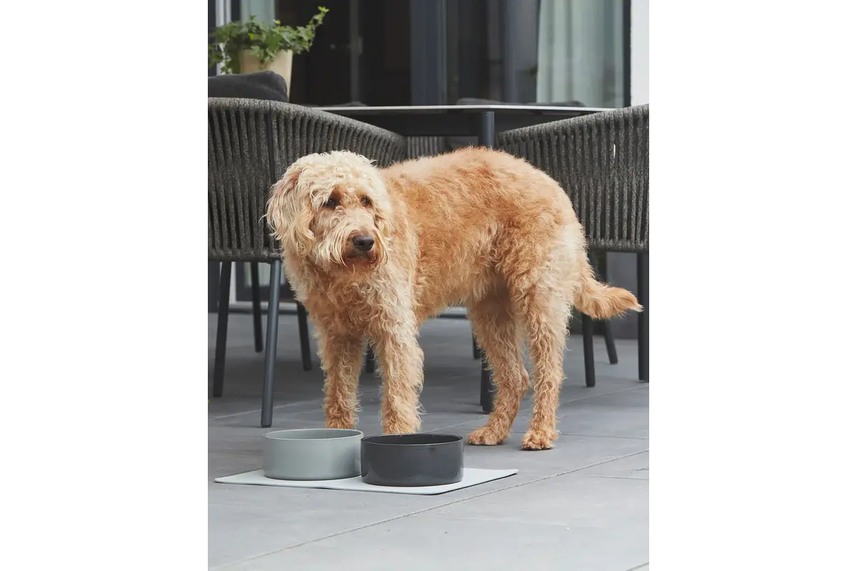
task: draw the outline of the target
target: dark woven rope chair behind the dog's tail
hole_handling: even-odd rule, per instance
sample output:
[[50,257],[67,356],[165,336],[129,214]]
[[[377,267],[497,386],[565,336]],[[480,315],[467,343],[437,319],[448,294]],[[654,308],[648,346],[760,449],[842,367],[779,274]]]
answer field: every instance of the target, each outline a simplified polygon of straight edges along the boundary
[[[651,104],[514,129],[497,138],[501,149],[560,182],[584,226],[590,261],[594,253],[637,254],[636,294],[644,306],[638,314],[638,376],[650,381]],[[594,386],[594,326],[588,316],[582,321],[586,386]]]

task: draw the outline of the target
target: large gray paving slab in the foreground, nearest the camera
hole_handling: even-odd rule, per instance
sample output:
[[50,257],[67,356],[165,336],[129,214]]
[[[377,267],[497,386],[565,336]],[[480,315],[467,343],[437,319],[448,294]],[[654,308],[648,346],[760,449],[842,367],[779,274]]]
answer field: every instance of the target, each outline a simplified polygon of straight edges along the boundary
[[650,529],[650,481],[567,474],[332,533],[230,568],[617,571],[650,561]]

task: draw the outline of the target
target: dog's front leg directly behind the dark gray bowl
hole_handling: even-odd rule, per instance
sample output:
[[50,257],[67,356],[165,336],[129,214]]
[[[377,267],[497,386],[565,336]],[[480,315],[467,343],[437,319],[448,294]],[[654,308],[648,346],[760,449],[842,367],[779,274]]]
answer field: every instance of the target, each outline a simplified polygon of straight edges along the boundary
[[423,349],[417,327],[398,326],[375,335],[381,364],[381,426],[384,434],[420,430],[419,396],[423,390]]

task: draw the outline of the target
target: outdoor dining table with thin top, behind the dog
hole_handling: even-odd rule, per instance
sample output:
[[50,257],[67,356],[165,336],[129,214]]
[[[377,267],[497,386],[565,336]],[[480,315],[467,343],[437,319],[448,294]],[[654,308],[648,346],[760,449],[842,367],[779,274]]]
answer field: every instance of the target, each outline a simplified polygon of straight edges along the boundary
[[[480,146],[494,147],[497,133],[530,127],[569,117],[609,111],[601,107],[559,107],[553,105],[395,105],[361,107],[316,107],[385,128],[405,137],[476,137]],[[482,410],[494,407],[488,363],[482,352]]]

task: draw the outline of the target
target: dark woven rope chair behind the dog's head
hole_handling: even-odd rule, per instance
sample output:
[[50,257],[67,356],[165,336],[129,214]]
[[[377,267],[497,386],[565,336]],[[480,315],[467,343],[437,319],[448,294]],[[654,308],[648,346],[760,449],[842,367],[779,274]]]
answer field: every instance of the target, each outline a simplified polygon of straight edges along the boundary
[[[223,394],[231,263],[270,264],[261,413],[261,425],[266,428],[273,419],[273,371],[283,276],[279,244],[264,219],[268,193],[297,158],[334,150],[359,152],[384,167],[405,157],[405,140],[385,129],[301,105],[206,98],[206,261],[223,263],[213,394]],[[298,312],[302,309],[299,305]],[[305,313],[299,315],[299,324],[302,339],[309,338]],[[302,353],[306,362],[309,342]]]

